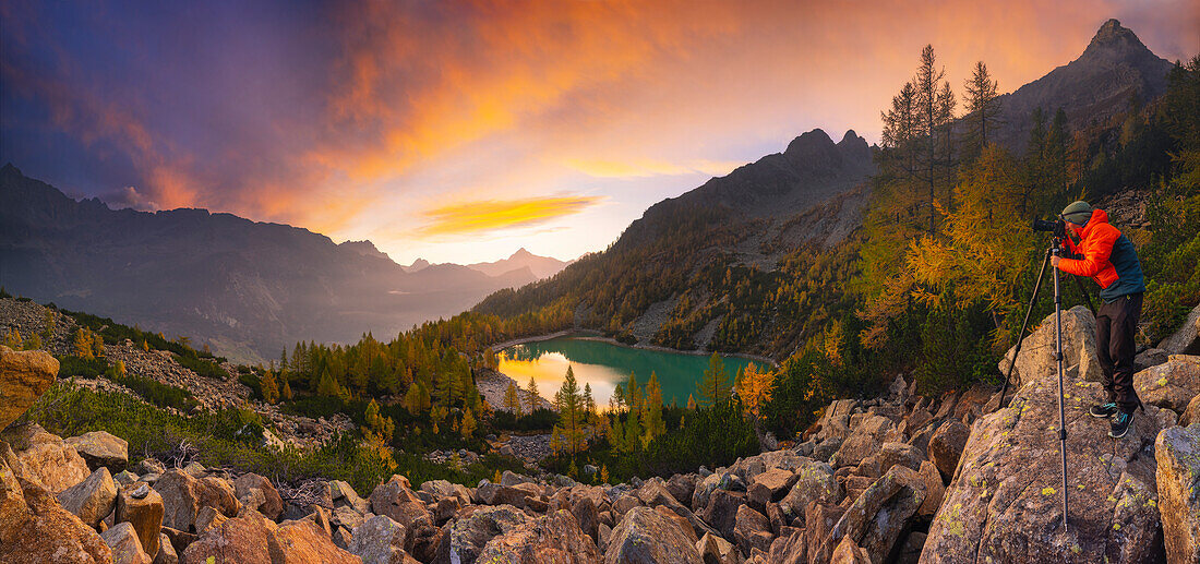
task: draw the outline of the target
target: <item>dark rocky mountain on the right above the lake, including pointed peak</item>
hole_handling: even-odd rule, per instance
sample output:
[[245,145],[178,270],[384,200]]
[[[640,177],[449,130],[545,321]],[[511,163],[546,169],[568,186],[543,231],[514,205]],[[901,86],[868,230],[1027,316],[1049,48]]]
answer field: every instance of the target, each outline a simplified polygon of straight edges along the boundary
[[[1068,131],[1103,124],[1130,103],[1160,96],[1171,67],[1110,19],[1078,59],[997,96],[1000,122],[991,139],[1022,152],[1036,108],[1046,121],[1062,109]],[[778,311],[724,318],[733,311],[730,300],[745,292],[730,269],[752,266],[769,277],[786,257],[812,257],[844,240],[862,224],[872,152],[853,131],[838,143],[821,130],[810,131],[781,154],[654,204],[605,252],[581,258],[553,278],[488,296],[476,311],[512,316],[566,296],[578,305],[578,324],[624,338],[790,353],[803,335],[785,335]],[[654,250],[650,257],[647,248]],[[653,276],[641,277],[647,269]],[[754,277],[742,282],[752,284]],[[746,347],[721,341],[726,330],[760,337]]]

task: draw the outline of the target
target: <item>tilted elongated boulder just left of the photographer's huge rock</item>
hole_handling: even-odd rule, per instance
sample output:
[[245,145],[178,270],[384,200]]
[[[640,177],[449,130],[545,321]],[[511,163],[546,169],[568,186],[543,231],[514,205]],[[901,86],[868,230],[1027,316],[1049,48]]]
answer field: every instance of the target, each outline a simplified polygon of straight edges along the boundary
[[826,562],[839,542],[850,539],[865,548],[872,560],[883,562],[924,500],[925,482],[920,475],[908,467],[893,466],[846,509],[809,559]]

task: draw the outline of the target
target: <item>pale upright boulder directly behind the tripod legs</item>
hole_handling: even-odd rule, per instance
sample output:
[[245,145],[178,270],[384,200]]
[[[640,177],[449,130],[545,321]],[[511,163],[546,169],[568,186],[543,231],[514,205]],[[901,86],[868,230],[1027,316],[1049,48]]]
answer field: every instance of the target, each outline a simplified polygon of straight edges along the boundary
[[[1015,350],[1016,347],[1008,349],[1001,359],[1001,374],[1008,373]],[[1025,337],[1021,354],[1016,359],[1016,368],[1013,371],[1013,383],[1021,386],[1042,378],[1057,378],[1058,364],[1054,359],[1056,350],[1055,318],[1051,313],[1028,337]],[[1085,306],[1075,306],[1062,312],[1062,358],[1063,368],[1072,379],[1100,382],[1104,377],[1096,355],[1096,316]]]

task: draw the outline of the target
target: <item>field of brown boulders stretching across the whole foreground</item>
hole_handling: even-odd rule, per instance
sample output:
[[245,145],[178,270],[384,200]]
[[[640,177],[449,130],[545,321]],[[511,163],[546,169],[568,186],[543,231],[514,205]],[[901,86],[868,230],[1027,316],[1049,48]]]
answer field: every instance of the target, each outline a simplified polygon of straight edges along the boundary
[[[0,436],[0,562],[1200,562],[1200,356],[1144,355],[1146,408],[1111,439],[1086,413],[1103,394],[1094,319],[1064,319],[1066,532],[1043,324],[1003,408],[990,388],[930,398],[896,379],[887,397],[833,402],[794,448],[616,486],[394,475],[365,497],[341,481],[284,497],[256,474],[130,466],[108,433],[14,426]],[[2,389],[40,394],[53,364],[0,349]],[[25,407],[6,403],[0,425]]]

